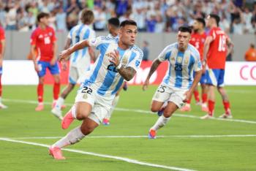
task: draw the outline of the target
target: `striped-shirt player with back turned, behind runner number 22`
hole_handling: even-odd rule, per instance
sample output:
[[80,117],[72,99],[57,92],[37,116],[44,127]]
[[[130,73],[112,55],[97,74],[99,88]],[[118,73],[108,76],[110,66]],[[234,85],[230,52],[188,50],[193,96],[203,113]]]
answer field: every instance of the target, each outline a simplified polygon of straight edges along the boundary
[[[89,27],[94,21],[94,12],[88,9],[83,9],[80,20],[81,24],[74,26],[69,31],[67,42],[64,47],[65,50],[83,39],[95,38],[95,31]],[[51,110],[53,115],[56,115],[57,117],[61,117],[61,106],[63,106],[64,100],[67,98],[68,94],[75,87],[76,83],[78,83],[78,80],[83,82],[84,75],[86,75],[86,72],[90,69],[91,53],[89,52],[89,47],[84,47],[83,49],[72,53],[69,62],[69,83],[67,87],[64,88],[64,91],[62,91],[53,110]],[[65,61],[63,62],[63,65],[64,69],[66,69],[67,63]]]

